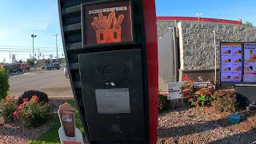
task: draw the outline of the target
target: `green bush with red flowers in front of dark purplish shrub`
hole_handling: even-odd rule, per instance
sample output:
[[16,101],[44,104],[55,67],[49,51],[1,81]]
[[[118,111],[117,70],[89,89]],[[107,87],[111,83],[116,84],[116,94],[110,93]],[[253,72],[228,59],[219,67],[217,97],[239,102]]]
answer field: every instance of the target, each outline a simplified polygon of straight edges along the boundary
[[26,127],[38,127],[47,122],[50,114],[50,106],[47,103],[26,102],[18,113],[18,120]]

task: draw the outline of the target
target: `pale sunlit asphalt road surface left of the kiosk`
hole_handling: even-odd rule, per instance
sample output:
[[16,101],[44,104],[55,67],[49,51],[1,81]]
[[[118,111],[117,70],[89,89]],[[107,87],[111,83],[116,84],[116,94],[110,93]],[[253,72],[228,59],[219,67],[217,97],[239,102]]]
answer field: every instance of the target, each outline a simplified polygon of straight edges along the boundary
[[44,70],[14,75],[9,78],[10,95],[19,96],[26,90],[40,90],[49,96],[73,96],[70,79],[63,70]]

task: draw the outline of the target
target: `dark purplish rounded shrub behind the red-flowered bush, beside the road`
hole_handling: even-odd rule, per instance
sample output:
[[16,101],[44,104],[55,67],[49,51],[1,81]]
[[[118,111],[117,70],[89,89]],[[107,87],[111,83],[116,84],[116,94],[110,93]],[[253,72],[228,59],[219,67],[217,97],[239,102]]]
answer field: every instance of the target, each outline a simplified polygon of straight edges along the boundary
[[25,91],[18,98],[18,104],[22,104],[23,99],[25,99],[25,98],[28,98],[28,100],[30,101],[30,98],[32,98],[35,95],[38,96],[38,98],[39,98],[38,102],[48,102],[49,101],[48,95],[46,93],[43,93],[38,90],[29,90],[29,91]]

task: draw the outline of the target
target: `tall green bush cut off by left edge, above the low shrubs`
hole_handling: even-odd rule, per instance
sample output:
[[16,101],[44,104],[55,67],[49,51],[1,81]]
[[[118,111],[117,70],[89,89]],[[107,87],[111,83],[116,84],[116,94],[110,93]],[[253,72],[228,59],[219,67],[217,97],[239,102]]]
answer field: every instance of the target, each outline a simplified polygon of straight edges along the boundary
[[2,98],[6,98],[6,95],[9,91],[9,83],[8,83],[9,75],[7,71],[0,65],[0,100]]

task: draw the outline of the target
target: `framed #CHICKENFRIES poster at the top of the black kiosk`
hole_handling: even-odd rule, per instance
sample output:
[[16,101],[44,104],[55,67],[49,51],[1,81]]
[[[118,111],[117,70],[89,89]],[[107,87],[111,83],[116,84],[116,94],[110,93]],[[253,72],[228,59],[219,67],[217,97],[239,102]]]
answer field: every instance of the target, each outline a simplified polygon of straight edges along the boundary
[[132,42],[130,2],[82,6],[83,44]]

